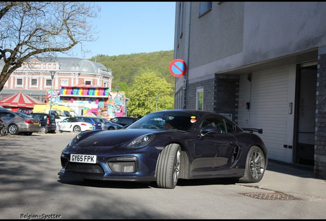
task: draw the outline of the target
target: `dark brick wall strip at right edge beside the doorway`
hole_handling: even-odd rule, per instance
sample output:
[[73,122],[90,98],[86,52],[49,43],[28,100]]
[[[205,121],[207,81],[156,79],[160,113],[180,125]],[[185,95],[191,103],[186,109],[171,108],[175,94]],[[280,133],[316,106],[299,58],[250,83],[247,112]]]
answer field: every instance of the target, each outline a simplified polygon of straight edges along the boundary
[[318,50],[316,87],[315,174],[326,178],[326,46]]

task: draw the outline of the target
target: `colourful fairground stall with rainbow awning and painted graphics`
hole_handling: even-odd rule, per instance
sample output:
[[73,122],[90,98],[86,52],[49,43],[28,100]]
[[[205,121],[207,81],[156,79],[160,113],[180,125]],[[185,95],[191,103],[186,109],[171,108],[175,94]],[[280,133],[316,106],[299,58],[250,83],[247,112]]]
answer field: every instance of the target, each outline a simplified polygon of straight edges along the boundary
[[95,85],[62,86],[47,91],[47,103],[69,106],[79,115],[101,118],[125,115],[125,92],[112,92],[108,87]]

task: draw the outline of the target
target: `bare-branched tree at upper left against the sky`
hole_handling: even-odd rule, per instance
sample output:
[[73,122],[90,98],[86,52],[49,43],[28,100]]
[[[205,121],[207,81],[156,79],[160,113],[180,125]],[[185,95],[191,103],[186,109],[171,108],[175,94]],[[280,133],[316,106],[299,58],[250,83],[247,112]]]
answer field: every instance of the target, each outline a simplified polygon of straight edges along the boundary
[[90,20],[100,8],[89,2],[0,2],[0,91],[9,76],[32,57],[55,57],[94,41]]

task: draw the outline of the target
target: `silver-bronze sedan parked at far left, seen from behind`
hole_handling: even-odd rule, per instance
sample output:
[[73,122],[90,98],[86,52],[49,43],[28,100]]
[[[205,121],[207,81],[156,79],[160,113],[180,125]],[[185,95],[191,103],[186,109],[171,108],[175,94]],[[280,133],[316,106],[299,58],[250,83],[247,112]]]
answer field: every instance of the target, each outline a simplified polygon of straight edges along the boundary
[[19,132],[25,135],[32,135],[33,132],[39,132],[41,128],[38,119],[23,113],[0,111],[0,119],[5,123],[5,128],[8,132],[13,135],[17,135]]

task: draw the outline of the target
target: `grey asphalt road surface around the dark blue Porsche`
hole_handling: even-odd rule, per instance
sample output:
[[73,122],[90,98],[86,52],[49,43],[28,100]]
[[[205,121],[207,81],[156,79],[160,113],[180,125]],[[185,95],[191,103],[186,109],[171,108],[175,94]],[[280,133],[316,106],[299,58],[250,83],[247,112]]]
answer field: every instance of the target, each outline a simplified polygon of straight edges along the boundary
[[[0,136],[0,219],[324,219],[320,200],[261,200],[272,191],[230,179],[155,183],[59,178],[60,152],[76,135]],[[284,184],[286,185],[286,184]]]

